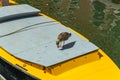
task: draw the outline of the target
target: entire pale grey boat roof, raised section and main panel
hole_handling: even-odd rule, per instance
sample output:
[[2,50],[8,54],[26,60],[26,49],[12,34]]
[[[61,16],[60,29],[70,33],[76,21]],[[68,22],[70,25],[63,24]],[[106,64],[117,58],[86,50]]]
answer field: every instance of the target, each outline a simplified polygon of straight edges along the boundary
[[[6,10],[3,8],[0,8],[0,20],[3,17],[6,20],[0,22],[0,46],[15,57],[48,67],[98,49],[93,43],[48,17],[25,17],[38,12],[38,9],[29,5],[7,6],[4,8]],[[16,16],[22,18],[7,20],[6,11],[9,19]],[[72,34],[65,41],[63,49],[56,46],[57,36],[61,32]]]

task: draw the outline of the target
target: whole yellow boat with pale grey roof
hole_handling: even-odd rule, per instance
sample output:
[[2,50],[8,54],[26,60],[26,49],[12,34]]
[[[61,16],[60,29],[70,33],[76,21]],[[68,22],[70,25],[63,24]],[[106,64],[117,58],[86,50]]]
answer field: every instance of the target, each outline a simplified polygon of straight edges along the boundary
[[[59,49],[61,32],[72,36]],[[120,70],[87,38],[21,4],[0,8],[0,80],[120,80]]]

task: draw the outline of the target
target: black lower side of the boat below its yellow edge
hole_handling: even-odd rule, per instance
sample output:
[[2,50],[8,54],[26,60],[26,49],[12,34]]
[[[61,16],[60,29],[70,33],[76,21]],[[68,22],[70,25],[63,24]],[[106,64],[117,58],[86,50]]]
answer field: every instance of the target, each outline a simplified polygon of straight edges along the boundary
[[2,80],[40,80],[13,67],[2,58],[0,58],[0,75],[0,80],[1,78]]

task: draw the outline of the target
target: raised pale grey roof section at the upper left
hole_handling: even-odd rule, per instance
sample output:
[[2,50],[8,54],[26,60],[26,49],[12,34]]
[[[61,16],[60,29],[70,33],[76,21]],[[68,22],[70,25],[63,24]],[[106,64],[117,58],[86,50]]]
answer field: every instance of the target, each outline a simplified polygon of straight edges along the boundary
[[0,22],[12,18],[25,17],[35,15],[40,12],[39,9],[31,7],[27,4],[4,6],[0,8]]

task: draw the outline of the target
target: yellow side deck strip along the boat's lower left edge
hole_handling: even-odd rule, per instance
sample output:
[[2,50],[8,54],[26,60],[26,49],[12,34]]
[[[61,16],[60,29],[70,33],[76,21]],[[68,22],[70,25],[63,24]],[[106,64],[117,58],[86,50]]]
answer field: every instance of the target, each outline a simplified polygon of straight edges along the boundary
[[10,55],[2,47],[0,48],[0,58],[3,58],[4,60],[8,61],[11,65],[13,65],[17,68],[18,68],[17,65],[19,65],[20,67],[23,67],[23,69],[21,69],[22,71],[24,71],[25,73],[28,73],[30,75],[33,75],[39,79],[48,80],[48,78],[49,78],[50,80],[52,80],[51,78],[53,78],[52,75],[50,75],[49,73],[44,73],[43,70],[33,67],[33,66],[30,66],[28,64],[25,64],[24,61],[20,61],[19,59]]

